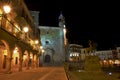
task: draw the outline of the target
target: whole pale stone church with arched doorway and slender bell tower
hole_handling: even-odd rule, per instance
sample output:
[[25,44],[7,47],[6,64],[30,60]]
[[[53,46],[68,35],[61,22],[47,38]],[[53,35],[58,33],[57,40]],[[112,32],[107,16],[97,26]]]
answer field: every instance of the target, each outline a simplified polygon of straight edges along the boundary
[[[35,20],[38,19],[38,12],[32,11]],[[62,65],[65,61],[65,18],[61,13],[58,16],[58,26],[38,26],[41,37],[41,57],[40,64],[42,66],[48,65]],[[38,20],[35,21],[38,24]],[[44,51],[43,51],[44,50]]]

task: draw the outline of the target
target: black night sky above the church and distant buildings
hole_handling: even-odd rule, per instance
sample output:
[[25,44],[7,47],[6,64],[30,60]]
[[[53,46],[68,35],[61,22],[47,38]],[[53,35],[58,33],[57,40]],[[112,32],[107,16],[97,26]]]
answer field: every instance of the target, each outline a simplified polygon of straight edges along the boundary
[[88,40],[98,49],[120,45],[120,6],[116,1],[24,0],[30,10],[40,11],[39,25],[58,26],[62,11],[70,43],[88,46]]

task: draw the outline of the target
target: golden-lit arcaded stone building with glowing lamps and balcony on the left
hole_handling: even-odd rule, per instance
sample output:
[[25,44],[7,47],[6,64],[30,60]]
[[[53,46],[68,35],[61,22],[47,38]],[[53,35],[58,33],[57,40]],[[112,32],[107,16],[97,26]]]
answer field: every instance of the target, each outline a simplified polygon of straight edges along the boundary
[[39,47],[40,31],[24,0],[0,0],[0,72],[38,67]]

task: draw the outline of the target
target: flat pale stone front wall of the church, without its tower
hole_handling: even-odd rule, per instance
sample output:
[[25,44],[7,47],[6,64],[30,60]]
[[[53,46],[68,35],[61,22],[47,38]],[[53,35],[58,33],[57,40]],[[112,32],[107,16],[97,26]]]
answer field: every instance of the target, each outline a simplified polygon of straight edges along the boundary
[[41,43],[44,52],[40,57],[42,65],[60,65],[65,61],[65,46],[62,28],[40,26]]

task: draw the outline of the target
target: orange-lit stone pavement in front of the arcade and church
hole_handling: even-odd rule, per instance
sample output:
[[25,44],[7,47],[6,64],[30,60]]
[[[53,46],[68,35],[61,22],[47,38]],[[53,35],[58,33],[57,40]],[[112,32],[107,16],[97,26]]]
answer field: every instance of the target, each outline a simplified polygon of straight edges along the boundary
[[0,80],[68,80],[64,67],[40,67],[37,69],[0,74]]

